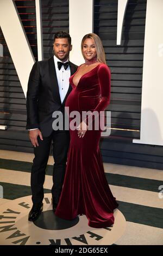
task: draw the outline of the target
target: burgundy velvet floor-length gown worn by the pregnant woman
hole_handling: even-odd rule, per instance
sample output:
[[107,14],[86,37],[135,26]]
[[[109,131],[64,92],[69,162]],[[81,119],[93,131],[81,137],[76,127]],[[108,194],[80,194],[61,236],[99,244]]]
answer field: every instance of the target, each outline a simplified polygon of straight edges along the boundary
[[[73,89],[65,106],[70,112],[104,111],[110,101],[108,66],[97,65],[80,78],[77,87],[73,84],[75,74],[70,77]],[[99,150],[101,130],[87,130],[85,136],[79,138],[78,131],[70,129],[70,136],[64,185],[55,215],[72,220],[84,214],[90,227],[109,227],[114,223],[113,211],[118,204],[104,174]]]

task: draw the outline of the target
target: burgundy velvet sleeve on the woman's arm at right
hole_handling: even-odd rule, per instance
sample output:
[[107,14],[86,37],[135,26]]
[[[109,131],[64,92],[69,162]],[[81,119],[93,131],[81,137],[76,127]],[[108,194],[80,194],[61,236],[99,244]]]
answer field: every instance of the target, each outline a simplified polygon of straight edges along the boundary
[[[107,65],[102,64],[99,66],[98,69],[98,81],[99,81],[99,87],[101,92],[101,100],[99,101],[96,108],[93,110],[97,111],[98,114],[100,114],[101,111],[104,111],[104,109],[109,105],[110,102],[110,69]],[[88,121],[91,123],[93,120],[95,120],[95,115],[90,114],[89,117],[87,117],[84,121],[86,124],[88,124]],[[90,124],[90,123],[89,123]]]

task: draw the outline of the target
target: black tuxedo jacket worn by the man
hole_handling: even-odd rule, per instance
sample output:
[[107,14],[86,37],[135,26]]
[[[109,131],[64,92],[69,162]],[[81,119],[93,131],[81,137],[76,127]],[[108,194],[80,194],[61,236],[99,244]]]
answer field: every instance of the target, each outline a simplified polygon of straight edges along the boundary
[[[70,62],[71,75],[78,66]],[[54,111],[64,114],[65,101],[72,88],[69,84],[67,94],[61,103],[54,57],[35,62],[29,75],[27,90],[27,126],[26,129],[39,128],[44,137],[51,135]]]

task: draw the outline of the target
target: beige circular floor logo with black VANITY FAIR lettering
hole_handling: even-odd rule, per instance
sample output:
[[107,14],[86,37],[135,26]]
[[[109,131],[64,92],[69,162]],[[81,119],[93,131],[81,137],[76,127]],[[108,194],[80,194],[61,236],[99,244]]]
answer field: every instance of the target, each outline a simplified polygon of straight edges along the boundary
[[0,205],[0,245],[112,245],[126,228],[118,209],[109,228],[89,227],[85,215],[73,221],[62,220],[52,210],[51,194],[45,194],[42,214],[34,223],[28,221],[31,207],[31,196]]

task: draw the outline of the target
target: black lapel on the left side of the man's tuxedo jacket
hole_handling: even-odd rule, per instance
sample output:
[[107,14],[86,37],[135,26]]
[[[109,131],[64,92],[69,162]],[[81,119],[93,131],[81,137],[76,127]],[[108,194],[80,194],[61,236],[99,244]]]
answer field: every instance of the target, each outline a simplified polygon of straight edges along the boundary
[[54,57],[48,60],[49,63],[49,77],[51,81],[52,93],[54,100],[61,105],[60,95],[59,95],[59,87],[57,81],[57,75],[55,71]]

